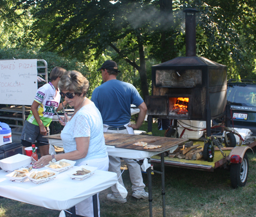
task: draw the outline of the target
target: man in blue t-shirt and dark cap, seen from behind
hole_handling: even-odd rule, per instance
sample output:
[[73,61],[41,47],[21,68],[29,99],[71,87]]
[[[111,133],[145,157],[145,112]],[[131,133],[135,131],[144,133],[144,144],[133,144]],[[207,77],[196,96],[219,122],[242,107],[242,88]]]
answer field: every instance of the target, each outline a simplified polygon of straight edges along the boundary
[[[146,115],[146,104],[140,97],[137,89],[129,83],[116,79],[120,71],[116,62],[112,60],[105,61],[98,69],[101,70],[103,84],[95,88],[92,94],[92,101],[99,109],[104,132],[134,134],[134,129],[138,129]],[[139,115],[136,124],[131,124],[131,104],[139,109]],[[124,186],[121,177],[121,162],[119,157],[109,156],[109,171],[117,173],[118,181]],[[140,165],[133,159],[122,158],[129,168],[132,182],[132,196],[135,198],[148,199],[148,193],[144,190],[144,183],[141,175]],[[122,198],[116,185],[111,187],[113,194],[108,194],[107,198],[118,203],[126,203]]]

